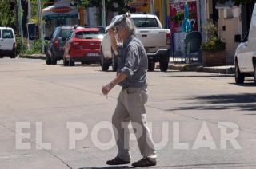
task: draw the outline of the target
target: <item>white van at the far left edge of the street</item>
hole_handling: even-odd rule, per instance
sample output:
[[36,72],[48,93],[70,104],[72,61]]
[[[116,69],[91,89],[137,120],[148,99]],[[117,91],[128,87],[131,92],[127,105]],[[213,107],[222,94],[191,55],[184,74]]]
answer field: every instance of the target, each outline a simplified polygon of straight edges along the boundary
[[8,27],[0,27],[0,57],[10,56],[16,57],[16,38],[14,29]]

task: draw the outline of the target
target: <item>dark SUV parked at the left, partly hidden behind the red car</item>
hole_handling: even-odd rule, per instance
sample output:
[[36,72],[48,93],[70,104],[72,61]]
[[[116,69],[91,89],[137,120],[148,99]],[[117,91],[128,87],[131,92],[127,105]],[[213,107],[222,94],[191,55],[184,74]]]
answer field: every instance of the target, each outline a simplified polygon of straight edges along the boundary
[[45,46],[47,65],[56,65],[58,60],[62,60],[64,45],[73,29],[74,26],[59,26],[54,29],[50,37],[45,38],[45,40],[50,41],[49,44]]

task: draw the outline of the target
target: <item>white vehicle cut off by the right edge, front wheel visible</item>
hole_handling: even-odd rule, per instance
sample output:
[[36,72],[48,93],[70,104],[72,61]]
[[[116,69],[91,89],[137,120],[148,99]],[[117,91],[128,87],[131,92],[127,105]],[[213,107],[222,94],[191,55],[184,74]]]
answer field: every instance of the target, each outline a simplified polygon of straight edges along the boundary
[[[250,22],[249,34],[246,35],[243,41],[235,51],[234,65],[235,65],[235,82],[242,84],[245,77],[254,76],[254,83],[256,84],[256,3]],[[249,35],[249,36],[248,36]],[[236,41],[240,41],[237,39]]]

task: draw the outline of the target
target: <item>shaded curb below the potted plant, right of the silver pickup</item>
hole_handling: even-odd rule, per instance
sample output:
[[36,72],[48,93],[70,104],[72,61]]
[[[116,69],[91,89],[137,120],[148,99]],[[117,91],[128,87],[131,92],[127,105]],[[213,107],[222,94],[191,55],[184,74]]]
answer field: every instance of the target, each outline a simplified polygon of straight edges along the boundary
[[[159,65],[156,65],[156,69],[159,69]],[[203,67],[202,65],[187,65],[177,64],[169,65],[168,69],[178,70],[182,72],[193,71],[193,72],[206,72],[206,73],[219,73],[219,74],[234,74],[234,66],[215,66],[215,67]]]

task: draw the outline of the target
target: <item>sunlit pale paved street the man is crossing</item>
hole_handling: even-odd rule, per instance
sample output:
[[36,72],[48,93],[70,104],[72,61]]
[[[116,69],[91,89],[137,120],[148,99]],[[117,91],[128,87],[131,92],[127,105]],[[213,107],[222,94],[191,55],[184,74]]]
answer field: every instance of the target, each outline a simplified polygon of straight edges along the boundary
[[[102,149],[108,149],[112,130],[100,130],[97,136],[102,143],[97,145],[92,131],[100,122],[111,121],[121,88],[115,87],[108,99],[101,88],[114,76],[102,72],[99,65],[64,67],[62,61],[46,65],[42,60],[1,59],[0,168],[110,168],[105,162],[114,158],[116,147]],[[148,73],[148,79],[147,120],[152,122],[154,142],[159,145],[167,137],[166,146],[157,146],[158,166],[152,168],[256,168],[256,86],[252,78],[235,85],[230,75],[157,70]],[[22,134],[18,122],[27,122],[30,128]],[[36,122],[42,123],[42,130]],[[67,122],[88,128],[86,138],[75,142],[75,149],[69,148]],[[167,132],[163,124],[169,124]],[[226,135],[238,133],[226,148],[222,148],[223,128],[228,128]],[[213,140],[197,142],[200,131],[208,133],[202,139]],[[30,148],[19,150],[15,140],[24,133],[30,133],[30,139],[22,139]],[[177,140],[183,147],[177,148]],[[51,143],[51,148],[40,142]],[[134,140],[131,154],[133,162],[141,159]]]

